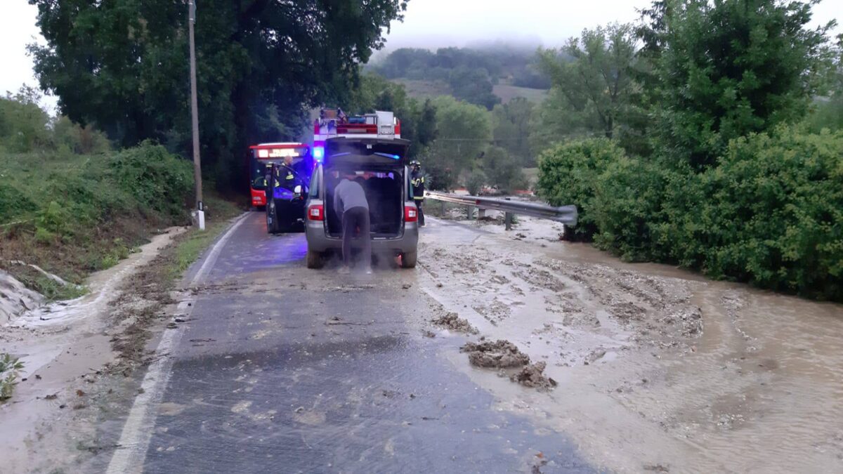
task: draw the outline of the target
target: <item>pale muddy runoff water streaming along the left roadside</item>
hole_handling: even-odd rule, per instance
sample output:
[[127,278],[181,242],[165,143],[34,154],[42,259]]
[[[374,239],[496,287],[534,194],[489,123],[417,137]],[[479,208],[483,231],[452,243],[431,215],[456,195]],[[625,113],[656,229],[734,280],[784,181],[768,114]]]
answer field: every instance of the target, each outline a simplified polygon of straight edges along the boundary
[[76,390],[89,391],[93,385],[86,382],[115,358],[110,331],[118,288],[184,231],[167,229],[115,267],[94,273],[83,297],[24,312],[0,326],[0,352],[24,363],[12,400],[0,405],[0,472],[49,471],[41,467],[71,464],[83,455],[77,445],[81,431],[93,428],[80,421],[88,399]]

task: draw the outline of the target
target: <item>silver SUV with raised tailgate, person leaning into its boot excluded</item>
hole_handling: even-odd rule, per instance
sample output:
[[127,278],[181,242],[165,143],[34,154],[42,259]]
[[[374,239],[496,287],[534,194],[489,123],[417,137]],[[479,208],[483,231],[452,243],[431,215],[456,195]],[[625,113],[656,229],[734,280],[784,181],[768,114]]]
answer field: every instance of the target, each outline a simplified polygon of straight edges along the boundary
[[342,251],[342,224],[333,203],[334,188],[345,175],[357,175],[366,191],[372,253],[400,256],[401,267],[416,267],[418,209],[405,159],[409,145],[400,138],[337,137],[325,142],[325,159],[314,170],[305,205],[308,268],[320,268],[325,254]]

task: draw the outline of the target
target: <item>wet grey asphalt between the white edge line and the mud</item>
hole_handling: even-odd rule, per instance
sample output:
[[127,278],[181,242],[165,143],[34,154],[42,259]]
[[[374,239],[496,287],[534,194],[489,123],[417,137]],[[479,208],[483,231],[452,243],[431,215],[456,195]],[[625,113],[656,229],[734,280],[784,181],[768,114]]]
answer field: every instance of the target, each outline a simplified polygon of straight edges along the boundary
[[170,354],[143,471],[594,471],[564,435],[494,409],[443,356],[462,337],[421,335],[421,270],[308,270],[303,234],[246,219]]

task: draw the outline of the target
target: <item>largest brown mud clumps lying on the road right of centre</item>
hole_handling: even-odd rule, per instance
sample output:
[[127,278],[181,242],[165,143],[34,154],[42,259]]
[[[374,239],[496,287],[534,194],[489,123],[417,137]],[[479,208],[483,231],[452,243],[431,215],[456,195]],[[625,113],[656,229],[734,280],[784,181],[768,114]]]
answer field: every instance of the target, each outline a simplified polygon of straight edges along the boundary
[[549,390],[556,386],[556,380],[545,376],[547,364],[544,362],[530,364],[529,355],[521,352],[512,342],[502,339],[495,342],[466,342],[460,351],[469,354],[471,365],[486,369],[500,369],[504,376],[506,375],[504,369],[520,368],[518,372],[509,375],[509,380],[525,387]]

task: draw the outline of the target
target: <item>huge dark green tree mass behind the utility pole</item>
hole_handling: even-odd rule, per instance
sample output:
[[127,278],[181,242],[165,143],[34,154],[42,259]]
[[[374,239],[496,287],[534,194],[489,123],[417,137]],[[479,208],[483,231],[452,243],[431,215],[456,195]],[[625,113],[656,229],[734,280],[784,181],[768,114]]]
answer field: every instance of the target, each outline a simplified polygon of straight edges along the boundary
[[[62,114],[122,145],[153,138],[187,154],[187,8],[172,0],[30,0],[46,46],[42,89]],[[384,45],[402,0],[207,0],[197,8],[203,163],[234,179],[250,143],[298,138],[308,107],[341,103],[357,64]]]

